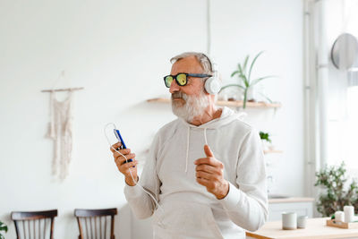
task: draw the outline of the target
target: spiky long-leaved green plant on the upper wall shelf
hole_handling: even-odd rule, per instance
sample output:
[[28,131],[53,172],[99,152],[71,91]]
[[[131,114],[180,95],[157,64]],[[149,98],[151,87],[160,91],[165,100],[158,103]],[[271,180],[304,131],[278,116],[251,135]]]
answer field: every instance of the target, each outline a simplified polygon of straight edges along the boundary
[[[252,72],[253,65],[256,63],[256,60],[259,58],[259,56],[262,53],[263,53],[263,51],[261,51],[258,55],[255,55],[255,57],[253,58],[253,60],[250,64],[249,70],[247,68],[248,68],[250,55],[246,55],[246,57],[243,61],[243,64],[240,64],[240,63],[237,64],[237,70],[231,74],[231,77],[234,77],[235,75],[237,75],[239,82],[237,84],[228,84],[221,88],[221,90],[224,90],[229,87],[238,87],[238,88],[242,89],[243,90],[243,108],[246,107],[247,92],[250,88],[252,88],[254,85],[256,85],[257,83],[259,83],[262,80],[275,77],[273,75],[268,75],[268,76],[264,76],[264,77],[260,77],[260,78],[251,80],[251,72]],[[269,101],[271,101],[271,100],[269,100]]]

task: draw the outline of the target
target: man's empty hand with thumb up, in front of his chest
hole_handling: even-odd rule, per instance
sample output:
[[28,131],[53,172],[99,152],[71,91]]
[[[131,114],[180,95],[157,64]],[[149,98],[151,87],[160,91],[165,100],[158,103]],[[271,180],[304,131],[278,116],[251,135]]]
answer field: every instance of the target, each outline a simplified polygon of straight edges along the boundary
[[224,179],[224,165],[209,148],[204,145],[206,158],[198,158],[194,161],[196,165],[196,181],[205,186],[208,192],[214,194],[218,200],[226,197],[229,192],[229,183]]

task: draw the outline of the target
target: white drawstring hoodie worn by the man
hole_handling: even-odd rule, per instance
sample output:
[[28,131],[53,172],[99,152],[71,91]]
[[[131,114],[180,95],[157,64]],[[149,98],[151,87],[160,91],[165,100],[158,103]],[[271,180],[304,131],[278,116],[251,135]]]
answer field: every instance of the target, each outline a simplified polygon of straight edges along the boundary
[[[229,192],[222,200],[196,182],[194,161],[205,158],[206,141],[224,168]],[[124,187],[137,218],[153,215],[155,238],[245,238],[268,218],[266,170],[260,135],[224,107],[219,118],[195,126],[182,119],[157,133],[140,186]]]

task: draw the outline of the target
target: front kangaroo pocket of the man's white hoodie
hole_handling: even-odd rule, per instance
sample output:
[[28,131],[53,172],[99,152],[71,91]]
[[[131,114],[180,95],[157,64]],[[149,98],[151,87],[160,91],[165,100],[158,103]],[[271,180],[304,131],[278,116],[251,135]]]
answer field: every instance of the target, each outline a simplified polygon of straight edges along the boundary
[[207,204],[166,201],[162,208],[153,215],[153,226],[158,227],[158,235],[162,231],[166,235],[184,235],[188,238],[223,238]]

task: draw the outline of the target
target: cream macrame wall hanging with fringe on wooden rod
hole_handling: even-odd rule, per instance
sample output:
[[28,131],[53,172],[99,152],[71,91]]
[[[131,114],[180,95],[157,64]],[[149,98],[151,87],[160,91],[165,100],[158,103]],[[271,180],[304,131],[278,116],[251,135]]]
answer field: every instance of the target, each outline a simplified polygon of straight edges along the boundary
[[[46,137],[54,141],[52,175],[61,181],[68,175],[72,159],[72,95],[74,90],[83,90],[83,88],[41,90],[41,92],[50,93],[50,121]],[[56,98],[58,91],[67,91],[67,97],[62,101],[58,100]]]

